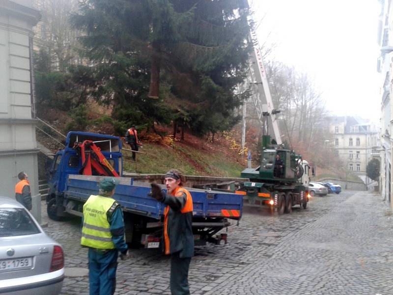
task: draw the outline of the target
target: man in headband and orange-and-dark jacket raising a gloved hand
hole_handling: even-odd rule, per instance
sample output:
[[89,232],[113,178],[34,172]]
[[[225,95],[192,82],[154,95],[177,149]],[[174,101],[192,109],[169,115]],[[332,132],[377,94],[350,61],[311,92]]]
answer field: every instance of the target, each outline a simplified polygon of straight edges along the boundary
[[151,195],[167,205],[164,211],[165,254],[170,254],[170,292],[172,295],[189,295],[188,269],[194,256],[193,199],[183,188],[183,175],[172,169],[165,175],[167,194],[151,183]]

